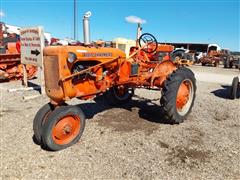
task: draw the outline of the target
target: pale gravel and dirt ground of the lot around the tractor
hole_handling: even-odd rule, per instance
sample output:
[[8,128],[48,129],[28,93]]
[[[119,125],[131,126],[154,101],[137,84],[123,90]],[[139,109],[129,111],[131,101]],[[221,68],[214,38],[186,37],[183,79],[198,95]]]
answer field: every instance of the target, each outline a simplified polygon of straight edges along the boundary
[[[238,73],[192,69],[197,77]],[[45,151],[32,139],[32,120],[48,98],[25,102],[22,96],[37,92],[7,92],[19,86],[0,85],[2,179],[240,178],[240,101],[226,99],[222,83],[198,81],[193,111],[180,125],[161,123],[156,91],[138,90],[123,108],[73,100],[69,103],[83,109],[87,124],[81,140],[60,152]]]

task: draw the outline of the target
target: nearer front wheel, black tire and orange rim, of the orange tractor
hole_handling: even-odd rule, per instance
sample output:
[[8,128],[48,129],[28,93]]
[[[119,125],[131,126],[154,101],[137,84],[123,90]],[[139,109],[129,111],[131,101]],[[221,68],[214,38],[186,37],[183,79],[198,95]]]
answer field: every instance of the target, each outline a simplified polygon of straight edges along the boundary
[[56,108],[43,125],[42,141],[49,150],[65,149],[81,138],[85,128],[85,116],[76,106]]

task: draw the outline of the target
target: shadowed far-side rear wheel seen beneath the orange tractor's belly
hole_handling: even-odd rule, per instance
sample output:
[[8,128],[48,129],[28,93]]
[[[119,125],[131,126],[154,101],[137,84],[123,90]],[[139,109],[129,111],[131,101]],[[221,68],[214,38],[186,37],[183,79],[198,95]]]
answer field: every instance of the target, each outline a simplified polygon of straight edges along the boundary
[[104,94],[104,98],[109,105],[117,106],[129,102],[132,99],[133,95],[133,88],[115,86]]

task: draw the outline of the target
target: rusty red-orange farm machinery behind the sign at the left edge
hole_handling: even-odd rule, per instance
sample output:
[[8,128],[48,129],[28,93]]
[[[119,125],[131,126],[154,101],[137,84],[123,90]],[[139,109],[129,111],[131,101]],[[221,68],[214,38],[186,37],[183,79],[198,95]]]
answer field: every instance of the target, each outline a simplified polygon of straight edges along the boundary
[[[18,80],[23,78],[23,67],[20,62],[20,37],[0,23],[0,82]],[[37,72],[37,67],[27,65],[27,77],[32,79]]]

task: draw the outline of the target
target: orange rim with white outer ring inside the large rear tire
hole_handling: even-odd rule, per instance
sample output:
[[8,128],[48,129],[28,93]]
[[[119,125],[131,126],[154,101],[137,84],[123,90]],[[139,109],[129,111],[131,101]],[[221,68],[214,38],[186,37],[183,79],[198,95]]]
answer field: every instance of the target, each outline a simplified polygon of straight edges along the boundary
[[193,100],[193,84],[190,80],[184,80],[178,89],[176,108],[180,115],[184,116],[190,109]]

